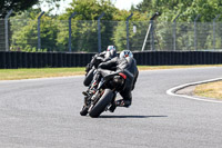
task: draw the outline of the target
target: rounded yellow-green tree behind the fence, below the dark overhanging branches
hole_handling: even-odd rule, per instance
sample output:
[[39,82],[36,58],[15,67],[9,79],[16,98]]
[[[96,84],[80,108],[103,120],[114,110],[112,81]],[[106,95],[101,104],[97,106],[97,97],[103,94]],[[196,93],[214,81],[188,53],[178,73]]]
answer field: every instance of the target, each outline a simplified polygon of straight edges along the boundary
[[[27,10],[10,20],[12,39],[11,50],[36,51],[38,45],[38,16],[40,9]],[[27,19],[29,18],[29,19]],[[58,23],[54,19],[44,14],[41,19],[41,48],[48,51],[58,50],[57,33]]]

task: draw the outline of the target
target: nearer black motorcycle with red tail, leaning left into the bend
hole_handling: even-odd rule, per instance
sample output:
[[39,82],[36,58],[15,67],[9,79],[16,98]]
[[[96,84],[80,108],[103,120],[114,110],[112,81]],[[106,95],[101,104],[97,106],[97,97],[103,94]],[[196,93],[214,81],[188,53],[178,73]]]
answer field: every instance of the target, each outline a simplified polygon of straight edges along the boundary
[[107,75],[101,78],[95,89],[89,87],[88,92],[84,93],[84,105],[80,111],[81,116],[97,118],[103,111],[110,109],[114,103],[117,93],[123,89],[127,75],[119,72]]

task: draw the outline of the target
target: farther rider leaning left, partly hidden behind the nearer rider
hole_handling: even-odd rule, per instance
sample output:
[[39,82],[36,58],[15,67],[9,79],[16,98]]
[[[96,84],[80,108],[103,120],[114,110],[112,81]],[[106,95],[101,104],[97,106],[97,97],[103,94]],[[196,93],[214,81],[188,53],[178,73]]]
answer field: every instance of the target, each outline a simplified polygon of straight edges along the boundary
[[89,86],[91,83],[93,73],[101,62],[111,60],[114,57],[117,57],[117,50],[114,46],[108,46],[105,51],[94,55],[90,63],[88,63],[85,67],[85,78],[83,81],[84,86]]

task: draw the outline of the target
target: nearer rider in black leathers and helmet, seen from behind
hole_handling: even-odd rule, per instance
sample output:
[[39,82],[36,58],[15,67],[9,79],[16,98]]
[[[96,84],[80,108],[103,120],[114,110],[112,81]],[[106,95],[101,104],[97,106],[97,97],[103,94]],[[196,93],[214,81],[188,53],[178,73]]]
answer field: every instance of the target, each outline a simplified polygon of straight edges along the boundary
[[113,112],[117,107],[129,107],[132,102],[131,91],[134,89],[139,71],[137,68],[137,61],[134,60],[133,55],[130,50],[123,50],[119,57],[100,63],[98,67],[98,75],[94,79],[95,81],[99,81],[99,79],[101,78],[100,76],[111,76],[117,72],[125,73],[127,80],[122,90],[120,91],[120,95],[123,99],[114,101],[114,103],[109,108],[111,112]]

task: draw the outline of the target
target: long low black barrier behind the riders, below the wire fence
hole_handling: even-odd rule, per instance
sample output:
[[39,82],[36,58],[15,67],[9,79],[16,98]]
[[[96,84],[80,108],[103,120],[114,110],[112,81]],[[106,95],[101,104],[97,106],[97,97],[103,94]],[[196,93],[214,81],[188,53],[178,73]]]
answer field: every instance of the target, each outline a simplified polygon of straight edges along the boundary
[[[84,67],[94,53],[0,51],[0,69]],[[216,65],[220,51],[145,51],[133,52],[140,66]]]

